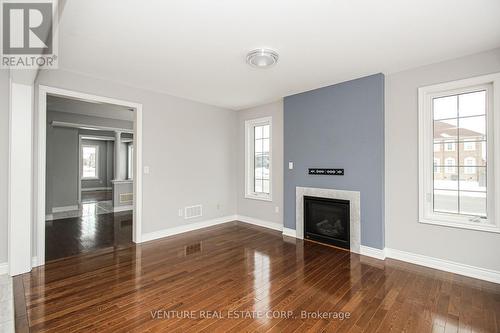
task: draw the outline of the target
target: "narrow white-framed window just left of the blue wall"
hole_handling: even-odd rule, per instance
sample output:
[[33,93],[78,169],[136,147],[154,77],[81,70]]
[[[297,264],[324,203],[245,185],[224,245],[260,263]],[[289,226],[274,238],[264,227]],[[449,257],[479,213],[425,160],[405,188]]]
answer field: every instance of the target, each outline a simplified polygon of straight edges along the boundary
[[245,197],[271,201],[271,118],[245,122]]

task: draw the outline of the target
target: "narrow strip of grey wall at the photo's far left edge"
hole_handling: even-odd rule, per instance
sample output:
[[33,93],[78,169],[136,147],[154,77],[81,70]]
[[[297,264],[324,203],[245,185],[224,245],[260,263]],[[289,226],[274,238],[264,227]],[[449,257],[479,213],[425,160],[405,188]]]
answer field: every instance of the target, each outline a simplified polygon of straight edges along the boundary
[[0,70],[0,264],[7,261],[9,166],[9,71]]

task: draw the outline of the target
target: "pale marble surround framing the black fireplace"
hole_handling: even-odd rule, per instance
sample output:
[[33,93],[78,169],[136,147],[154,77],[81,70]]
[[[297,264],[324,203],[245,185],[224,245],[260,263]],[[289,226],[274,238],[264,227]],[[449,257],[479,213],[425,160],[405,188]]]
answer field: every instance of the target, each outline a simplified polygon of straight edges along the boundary
[[295,232],[296,237],[300,239],[304,239],[304,196],[349,200],[351,252],[359,253],[361,244],[360,192],[297,186],[295,188]]

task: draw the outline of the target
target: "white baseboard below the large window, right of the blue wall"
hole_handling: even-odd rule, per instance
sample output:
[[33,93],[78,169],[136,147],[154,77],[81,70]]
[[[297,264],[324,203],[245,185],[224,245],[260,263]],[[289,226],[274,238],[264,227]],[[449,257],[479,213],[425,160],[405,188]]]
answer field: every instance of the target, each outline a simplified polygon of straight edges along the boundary
[[412,264],[426,266],[441,271],[460,274],[480,280],[500,283],[500,272],[491,269],[470,266],[454,261],[428,257],[421,254],[400,251],[396,249],[386,248],[385,253],[387,258],[393,258],[401,261],[406,261]]

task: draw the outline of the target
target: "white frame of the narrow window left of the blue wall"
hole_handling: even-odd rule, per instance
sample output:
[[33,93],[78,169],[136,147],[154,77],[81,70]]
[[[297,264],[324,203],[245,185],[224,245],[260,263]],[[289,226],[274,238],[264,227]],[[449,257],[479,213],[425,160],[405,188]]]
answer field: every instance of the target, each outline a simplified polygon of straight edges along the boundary
[[[255,132],[256,126],[269,125],[269,194],[254,191],[254,155],[255,155]],[[272,117],[263,117],[245,121],[245,198],[272,201],[273,193],[273,124]]]

